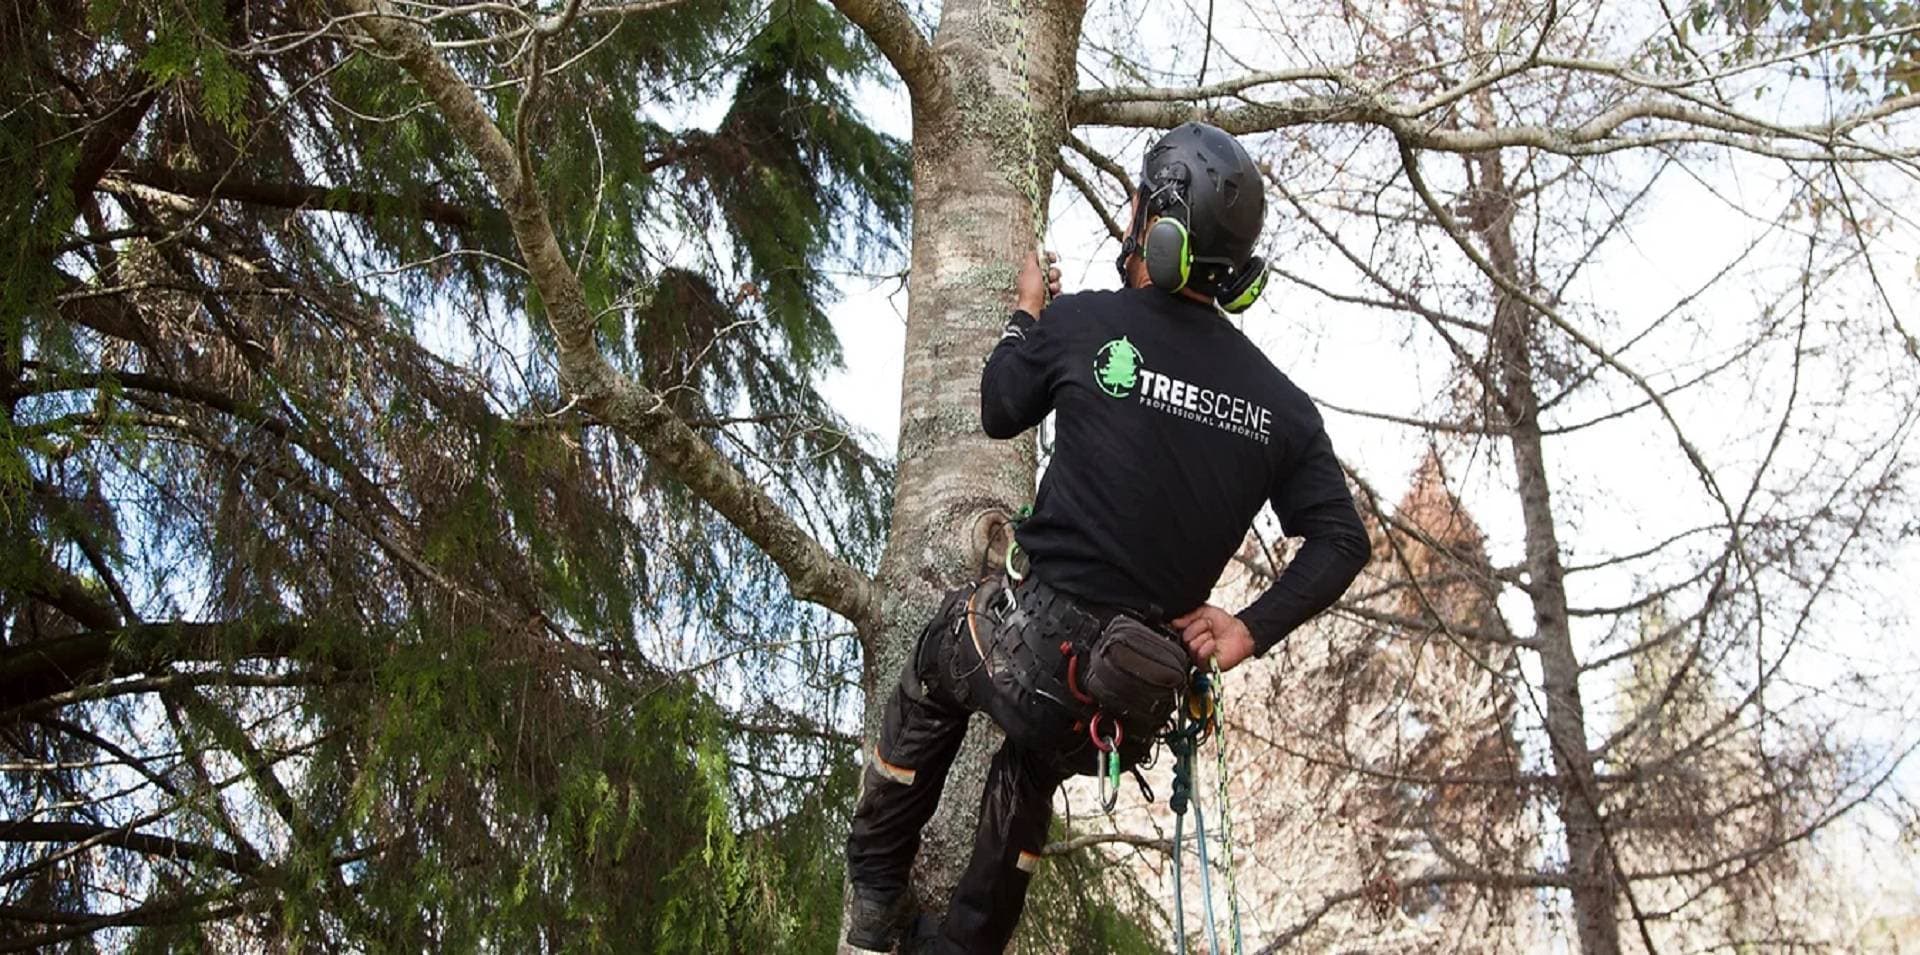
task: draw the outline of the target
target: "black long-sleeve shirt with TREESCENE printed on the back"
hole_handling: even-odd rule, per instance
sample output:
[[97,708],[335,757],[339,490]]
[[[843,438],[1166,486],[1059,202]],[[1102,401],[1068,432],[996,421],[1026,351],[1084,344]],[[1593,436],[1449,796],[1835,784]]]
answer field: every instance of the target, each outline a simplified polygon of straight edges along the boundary
[[1319,409],[1212,306],[1156,288],[1016,311],[987,357],[979,417],[1012,438],[1058,411],[1054,457],[1020,525],[1048,584],[1179,617],[1206,601],[1260,505],[1306,546],[1240,621],[1265,653],[1367,563]]

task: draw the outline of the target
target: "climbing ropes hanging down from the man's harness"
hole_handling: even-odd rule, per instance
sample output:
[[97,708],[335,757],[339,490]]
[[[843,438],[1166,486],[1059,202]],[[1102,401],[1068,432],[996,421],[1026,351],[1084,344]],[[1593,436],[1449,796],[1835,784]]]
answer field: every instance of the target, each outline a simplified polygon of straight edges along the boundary
[[[1179,945],[1179,955],[1187,955],[1187,895],[1183,886],[1183,869],[1187,857],[1187,811],[1192,809],[1194,815],[1194,844],[1200,857],[1200,895],[1206,899],[1206,940],[1212,955],[1219,955],[1219,930],[1215,928],[1217,918],[1213,917],[1213,867],[1208,859],[1206,845],[1206,811],[1200,807],[1198,794],[1194,794],[1194,753],[1208,740],[1219,738],[1221,726],[1221,678],[1219,661],[1213,661],[1212,673],[1194,673],[1192,684],[1187,690],[1187,699],[1181,701],[1179,721],[1162,738],[1167,742],[1167,749],[1173,751],[1173,792],[1167,796],[1167,805],[1173,809],[1173,938]],[[1223,869],[1227,874],[1227,903],[1229,915],[1233,918],[1233,953],[1242,955],[1246,943],[1240,936],[1240,897],[1238,886],[1233,878],[1233,822],[1227,811],[1227,746],[1219,744],[1219,822],[1221,822],[1221,842],[1227,857],[1223,859]]]

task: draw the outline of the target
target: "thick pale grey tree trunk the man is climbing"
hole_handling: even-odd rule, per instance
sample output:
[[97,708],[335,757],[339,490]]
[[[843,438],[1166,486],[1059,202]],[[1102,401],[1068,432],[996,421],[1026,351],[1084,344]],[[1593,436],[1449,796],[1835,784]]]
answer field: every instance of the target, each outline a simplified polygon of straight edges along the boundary
[[[1033,498],[1033,440],[996,442],[981,432],[979,369],[1012,309],[1018,256],[1035,242],[1025,171],[1039,163],[1044,204],[1066,136],[1083,13],[1075,0],[954,0],[941,10],[933,46],[950,96],[914,115],[899,471],[879,567],[881,621],[877,632],[862,634],[872,649],[862,673],[868,740],[877,738],[891,684],[941,594],[981,573],[987,532]],[[1027,67],[1031,98],[1021,94],[1016,65]],[[914,884],[929,913],[945,911],[966,869],[995,746],[998,730],[975,721],[925,828]]]

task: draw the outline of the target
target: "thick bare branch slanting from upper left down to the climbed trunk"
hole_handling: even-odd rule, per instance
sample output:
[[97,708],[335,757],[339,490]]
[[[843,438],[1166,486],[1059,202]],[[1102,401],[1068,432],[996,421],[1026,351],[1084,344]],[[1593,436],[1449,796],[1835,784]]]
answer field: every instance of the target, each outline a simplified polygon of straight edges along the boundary
[[361,15],[355,27],[434,100],[447,127],[474,154],[499,194],[528,275],[540,288],[547,323],[553,327],[561,377],[580,407],[639,444],[662,471],[685,482],[758,544],[787,575],[795,598],[847,617],[862,632],[870,630],[866,624],[877,607],[874,582],[828,553],[764,488],[695,434],[662,396],[620,375],[599,352],[593,338],[595,313],[586,302],[580,277],[561,252],[538,184],[522,173],[513,142],[493,123],[474,88],[440,58],[426,31],[397,15],[388,0],[338,0],[338,4]]

